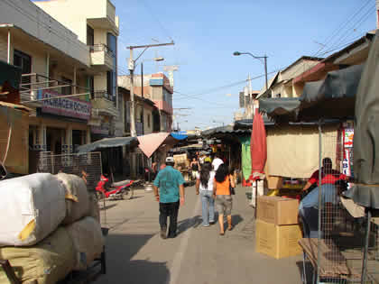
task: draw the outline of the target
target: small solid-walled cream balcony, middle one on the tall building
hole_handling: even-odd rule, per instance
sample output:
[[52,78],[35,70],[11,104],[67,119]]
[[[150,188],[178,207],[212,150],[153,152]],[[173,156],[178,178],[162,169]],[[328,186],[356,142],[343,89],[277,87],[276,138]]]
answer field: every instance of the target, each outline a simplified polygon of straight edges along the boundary
[[99,43],[89,46],[91,53],[91,65],[99,72],[106,72],[113,69],[115,55],[106,44]]

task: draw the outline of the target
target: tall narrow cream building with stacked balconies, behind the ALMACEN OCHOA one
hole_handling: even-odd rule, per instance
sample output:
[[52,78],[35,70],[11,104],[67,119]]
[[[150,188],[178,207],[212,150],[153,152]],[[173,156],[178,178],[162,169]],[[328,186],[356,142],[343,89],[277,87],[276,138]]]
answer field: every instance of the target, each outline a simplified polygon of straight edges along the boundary
[[35,5],[78,34],[79,41],[87,45],[91,69],[88,77],[91,140],[115,136],[119,33],[115,5],[109,0],[47,0]]

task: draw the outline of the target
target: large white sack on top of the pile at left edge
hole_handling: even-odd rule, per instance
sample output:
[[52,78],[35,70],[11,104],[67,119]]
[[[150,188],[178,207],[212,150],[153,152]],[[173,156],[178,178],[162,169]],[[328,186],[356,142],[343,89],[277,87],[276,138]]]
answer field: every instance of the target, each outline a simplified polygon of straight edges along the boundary
[[0,181],[0,194],[0,246],[38,243],[66,215],[65,189],[49,173]]

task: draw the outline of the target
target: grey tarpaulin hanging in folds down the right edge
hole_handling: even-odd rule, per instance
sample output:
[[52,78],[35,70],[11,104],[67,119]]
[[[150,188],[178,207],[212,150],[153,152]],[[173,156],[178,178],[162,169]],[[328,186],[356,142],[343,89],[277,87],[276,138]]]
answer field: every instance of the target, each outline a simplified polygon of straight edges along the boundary
[[379,209],[379,31],[376,32],[356,94],[354,133],[355,186],[346,196],[368,208]]

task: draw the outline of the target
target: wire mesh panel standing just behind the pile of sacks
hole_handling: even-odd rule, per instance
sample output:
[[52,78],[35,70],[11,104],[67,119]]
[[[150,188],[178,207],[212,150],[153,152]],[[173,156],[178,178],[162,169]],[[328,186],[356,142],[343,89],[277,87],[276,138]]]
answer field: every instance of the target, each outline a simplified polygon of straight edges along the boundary
[[88,192],[94,192],[102,175],[101,152],[56,155],[51,151],[42,151],[38,161],[38,172],[77,175],[87,180]]

